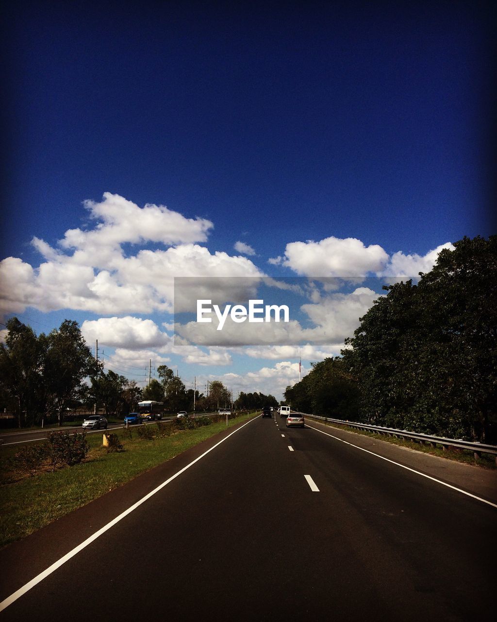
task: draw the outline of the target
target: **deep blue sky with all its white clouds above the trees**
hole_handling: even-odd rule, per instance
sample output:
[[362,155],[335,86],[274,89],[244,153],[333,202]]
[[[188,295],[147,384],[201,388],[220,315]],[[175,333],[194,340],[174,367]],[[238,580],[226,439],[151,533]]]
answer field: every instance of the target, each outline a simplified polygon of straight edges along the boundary
[[[280,399],[381,285],[495,233],[491,2],[3,11],[2,324]],[[218,331],[197,293],[290,320]]]

